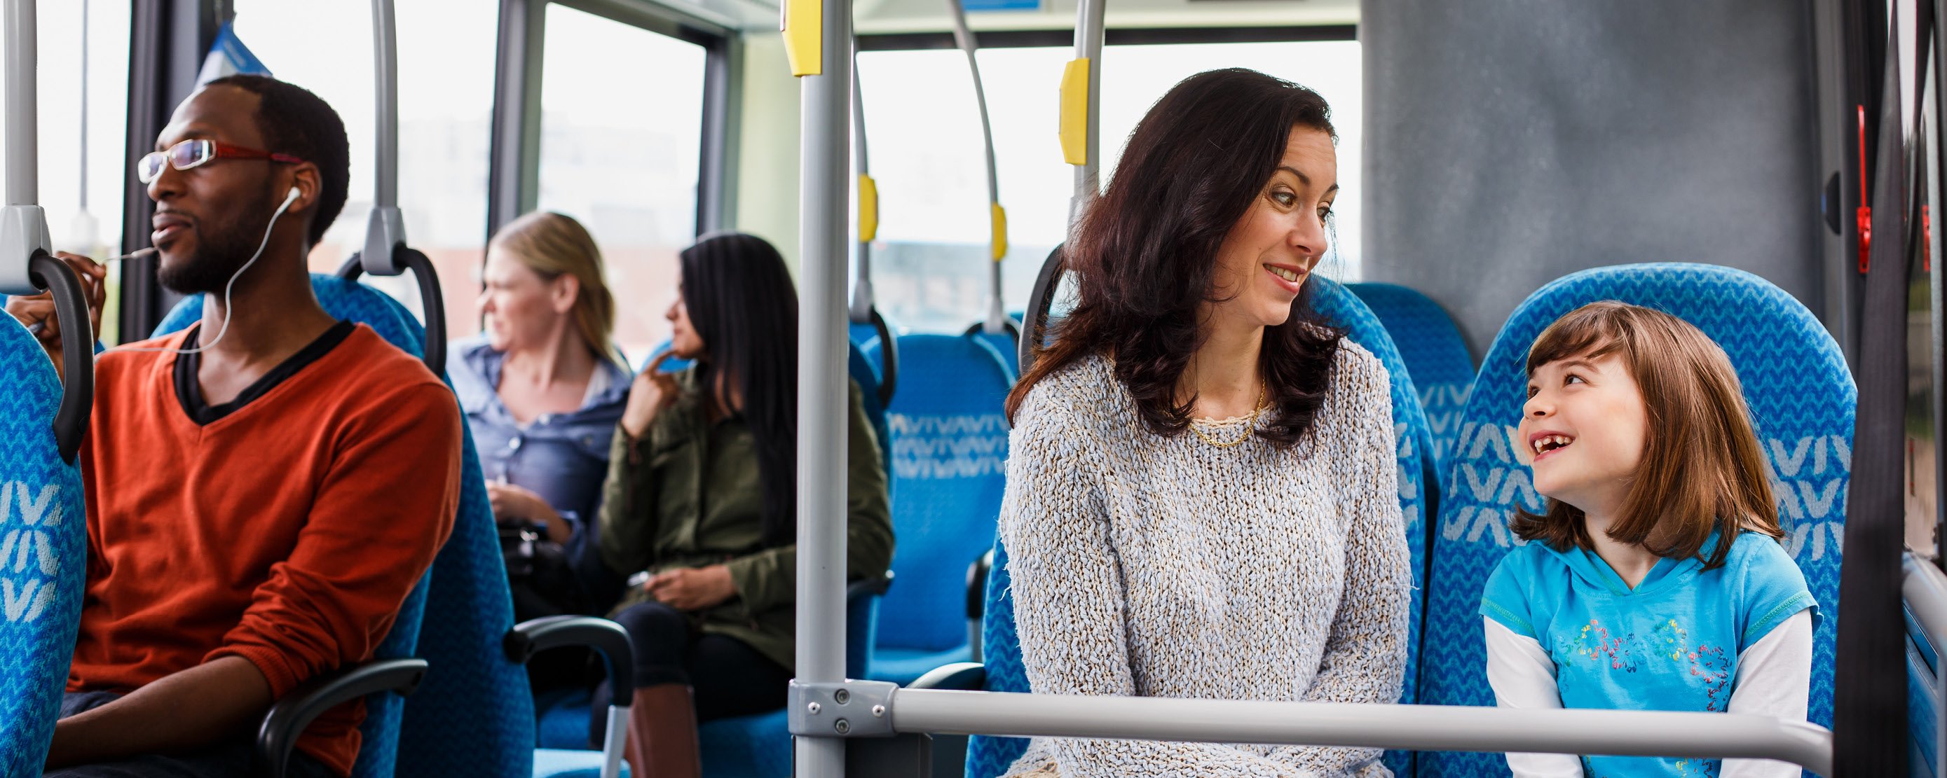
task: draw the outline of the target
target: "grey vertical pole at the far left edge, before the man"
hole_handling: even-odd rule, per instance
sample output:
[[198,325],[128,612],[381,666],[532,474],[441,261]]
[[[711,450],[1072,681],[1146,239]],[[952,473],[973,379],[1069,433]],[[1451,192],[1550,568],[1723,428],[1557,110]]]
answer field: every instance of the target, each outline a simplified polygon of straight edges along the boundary
[[39,91],[35,84],[33,0],[6,0],[0,23],[6,53],[0,54],[6,82],[6,208],[0,208],[0,294],[41,294],[29,276],[35,251],[49,251],[47,214],[39,204]]

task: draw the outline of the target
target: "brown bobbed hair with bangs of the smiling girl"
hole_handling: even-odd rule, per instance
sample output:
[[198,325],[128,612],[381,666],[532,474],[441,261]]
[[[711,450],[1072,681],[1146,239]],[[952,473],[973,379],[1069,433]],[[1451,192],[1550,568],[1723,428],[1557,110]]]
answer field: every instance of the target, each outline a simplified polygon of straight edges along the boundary
[[[1608,354],[1622,358],[1649,412],[1643,463],[1608,537],[1669,558],[1694,558],[1717,537],[1706,570],[1723,564],[1741,529],[1783,537],[1764,449],[1723,348],[1669,313],[1598,301],[1556,319],[1534,338],[1528,375],[1556,360]],[[1593,547],[1583,512],[1554,498],[1542,515],[1517,508],[1511,529],[1556,550]]]

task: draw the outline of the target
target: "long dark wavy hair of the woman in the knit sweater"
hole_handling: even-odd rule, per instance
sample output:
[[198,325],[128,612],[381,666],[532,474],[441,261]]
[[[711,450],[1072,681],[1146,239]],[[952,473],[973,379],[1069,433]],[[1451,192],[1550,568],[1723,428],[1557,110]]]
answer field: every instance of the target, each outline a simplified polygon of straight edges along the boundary
[[[1158,436],[1190,426],[1194,399],[1178,403],[1176,379],[1201,346],[1197,307],[1217,301],[1217,249],[1264,194],[1295,126],[1338,138],[1324,97],[1244,68],[1190,76],[1149,109],[1063,247],[1075,309],[1007,397],[1009,418],[1044,377],[1112,354],[1143,426]],[[1260,356],[1275,414],[1258,436],[1277,447],[1310,432],[1341,336],[1304,300],[1266,331]]]

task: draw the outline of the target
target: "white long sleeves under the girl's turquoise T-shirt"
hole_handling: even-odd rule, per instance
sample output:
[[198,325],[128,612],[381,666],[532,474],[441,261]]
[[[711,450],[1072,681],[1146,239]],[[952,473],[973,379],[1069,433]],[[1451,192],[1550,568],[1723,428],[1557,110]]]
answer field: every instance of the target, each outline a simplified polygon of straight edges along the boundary
[[[1534,638],[1482,619],[1488,636],[1488,685],[1501,708],[1561,708],[1556,663]],[[1737,655],[1729,712],[1803,722],[1813,675],[1813,611],[1785,619]],[[1581,778],[1575,755],[1509,753],[1515,778]],[[1719,778],[1797,778],[1797,764],[1770,759],[1725,759]]]

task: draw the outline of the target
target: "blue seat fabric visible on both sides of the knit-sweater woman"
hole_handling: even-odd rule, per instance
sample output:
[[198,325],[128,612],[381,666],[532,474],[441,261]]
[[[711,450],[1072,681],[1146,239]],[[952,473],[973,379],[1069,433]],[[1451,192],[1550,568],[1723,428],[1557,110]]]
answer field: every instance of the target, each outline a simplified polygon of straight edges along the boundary
[[[1380,327],[1365,303],[1343,286],[1312,276],[1306,282],[1308,305],[1330,325],[1345,329],[1345,336],[1373,352],[1392,379],[1392,432],[1396,438],[1400,513],[1406,519],[1406,545],[1412,552],[1414,601],[1408,624],[1406,689],[1400,702],[1414,702],[1414,667],[1419,657],[1421,589],[1425,587],[1425,473],[1427,449],[1425,412],[1414,393],[1414,383],[1400,364],[1400,352],[1392,336]],[[1020,663],[1020,640],[1014,636],[1014,597],[1010,574],[1007,570],[1007,548],[995,543],[993,570],[987,574],[985,617],[981,622],[981,654],[985,661],[985,683],[991,692],[1026,692],[1028,675]],[[968,739],[968,778],[993,778],[1007,770],[1028,741],[1018,737],[970,737]],[[1394,774],[1412,774],[1412,759],[1404,751],[1386,753],[1386,764]]]

